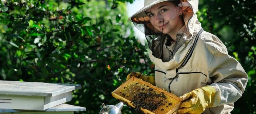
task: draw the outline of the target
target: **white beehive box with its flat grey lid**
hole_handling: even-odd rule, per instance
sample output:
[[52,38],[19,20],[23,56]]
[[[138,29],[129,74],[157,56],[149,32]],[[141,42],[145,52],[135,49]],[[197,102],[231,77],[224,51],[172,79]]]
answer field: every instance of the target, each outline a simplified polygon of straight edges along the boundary
[[40,110],[49,109],[72,99],[78,84],[0,81],[0,108]]

